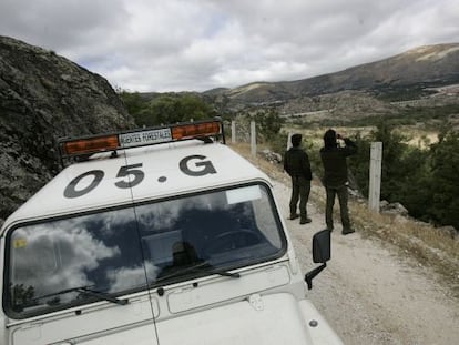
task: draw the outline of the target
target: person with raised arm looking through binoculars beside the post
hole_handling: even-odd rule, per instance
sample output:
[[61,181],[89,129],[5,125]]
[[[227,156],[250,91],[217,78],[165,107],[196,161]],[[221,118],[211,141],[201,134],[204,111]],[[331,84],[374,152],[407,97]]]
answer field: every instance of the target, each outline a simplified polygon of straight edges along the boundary
[[[343,140],[345,146],[339,146],[337,140]],[[325,222],[327,229],[333,231],[333,207],[335,205],[335,196],[338,195],[344,235],[354,232],[354,229],[350,226],[349,209],[347,206],[347,156],[355,153],[357,153],[355,142],[337,134],[332,129],[325,132],[324,148],[320,149],[320,159],[324,164],[324,186],[327,193]]]

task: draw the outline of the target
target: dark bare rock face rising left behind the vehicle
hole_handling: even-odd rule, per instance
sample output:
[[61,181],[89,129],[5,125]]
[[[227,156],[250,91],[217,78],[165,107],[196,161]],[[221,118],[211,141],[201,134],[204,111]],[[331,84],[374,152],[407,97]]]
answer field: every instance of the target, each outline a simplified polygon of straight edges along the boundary
[[0,37],[0,224],[59,171],[59,138],[133,126],[105,79]]

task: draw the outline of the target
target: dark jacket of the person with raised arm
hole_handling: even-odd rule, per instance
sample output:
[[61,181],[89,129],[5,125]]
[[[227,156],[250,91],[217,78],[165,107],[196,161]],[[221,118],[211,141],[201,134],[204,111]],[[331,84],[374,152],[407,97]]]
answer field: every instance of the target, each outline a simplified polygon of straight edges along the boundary
[[324,164],[324,185],[339,187],[347,183],[347,161],[346,158],[357,153],[356,144],[345,139],[345,146],[322,148],[320,159]]

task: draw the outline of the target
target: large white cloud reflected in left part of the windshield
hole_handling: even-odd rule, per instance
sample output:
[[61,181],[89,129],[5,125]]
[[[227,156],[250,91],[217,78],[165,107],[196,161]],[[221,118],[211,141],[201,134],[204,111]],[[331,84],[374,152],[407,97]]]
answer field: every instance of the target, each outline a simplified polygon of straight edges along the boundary
[[[64,223],[65,221],[62,224]],[[14,235],[16,239],[27,241],[27,245],[13,253],[17,275],[13,283],[33,286],[38,296],[57,290],[91,285],[93,282],[89,280],[86,271],[95,270],[104,258],[120,255],[116,246],[105,246],[84,227],[63,232],[45,224],[19,229]],[[57,256],[53,243],[59,243],[60,256]],[[41,255],[40,260],[37,260],[37,254]],[[62,263],[58,258],[65,263],[65,270],[62,270]],[[23,276],[18,276],[19,274]]]

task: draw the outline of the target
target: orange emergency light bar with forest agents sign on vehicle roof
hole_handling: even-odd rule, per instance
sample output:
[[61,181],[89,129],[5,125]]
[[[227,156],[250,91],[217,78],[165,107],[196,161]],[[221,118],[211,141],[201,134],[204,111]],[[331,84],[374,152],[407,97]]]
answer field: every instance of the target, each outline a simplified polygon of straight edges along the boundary
[[118,150],[192,139],[198,139],[206,143],[221,139],[222,143],[225,143],[222,119],[215,118],[213,120],[181,122],[115,133],[63,138],[58,141],[58,145],[63,166],[64,159],[73,158],[76,161],[84,161],[91,154],[100,152],[112,152],[112,155],[115,156]]

